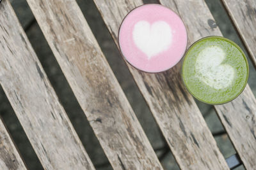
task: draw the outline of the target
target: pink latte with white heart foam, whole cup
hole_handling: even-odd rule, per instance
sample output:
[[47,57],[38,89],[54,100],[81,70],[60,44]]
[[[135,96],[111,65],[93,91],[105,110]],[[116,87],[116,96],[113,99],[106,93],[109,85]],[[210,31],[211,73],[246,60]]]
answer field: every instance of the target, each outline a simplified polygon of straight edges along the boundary
[[183,57],[188,36],[180,17],[160,4],[145,4],[123,20],[118,43],[125,60],[148,73],[165,71]]

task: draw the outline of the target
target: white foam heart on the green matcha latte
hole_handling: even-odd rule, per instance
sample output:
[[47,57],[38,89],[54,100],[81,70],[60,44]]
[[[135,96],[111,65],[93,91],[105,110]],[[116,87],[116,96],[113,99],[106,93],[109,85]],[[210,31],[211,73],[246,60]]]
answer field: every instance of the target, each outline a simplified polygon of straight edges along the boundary
[[200,80],[214,89],[225,89],[230,86],[235,70],[225,60],[225,52],[219,46],[209,46],[202,50],[196,59],[196,74]]

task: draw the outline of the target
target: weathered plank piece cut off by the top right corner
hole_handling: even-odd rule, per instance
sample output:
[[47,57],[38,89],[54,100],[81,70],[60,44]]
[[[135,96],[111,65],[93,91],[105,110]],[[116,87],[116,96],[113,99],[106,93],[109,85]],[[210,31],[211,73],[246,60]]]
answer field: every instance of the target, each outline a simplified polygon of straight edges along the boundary
[[256,68],[256,1],[222,0]]

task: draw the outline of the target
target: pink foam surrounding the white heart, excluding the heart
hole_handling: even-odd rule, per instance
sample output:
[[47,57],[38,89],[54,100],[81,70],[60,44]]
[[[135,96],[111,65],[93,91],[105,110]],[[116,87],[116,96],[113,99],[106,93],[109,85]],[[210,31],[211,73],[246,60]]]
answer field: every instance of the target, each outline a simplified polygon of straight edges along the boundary
[[[167,50],[148,59],[134,43],[134,25],[141,20],[152,24],[164,21],[172,29],[172,43]],[[186,27],[180,17],[160,4],[145,4],[132,10],[122,22],[118,33],[118,43],[124,58],[134,67],[149,73],[165,71],[175,66],[183,57],[188,43]]]

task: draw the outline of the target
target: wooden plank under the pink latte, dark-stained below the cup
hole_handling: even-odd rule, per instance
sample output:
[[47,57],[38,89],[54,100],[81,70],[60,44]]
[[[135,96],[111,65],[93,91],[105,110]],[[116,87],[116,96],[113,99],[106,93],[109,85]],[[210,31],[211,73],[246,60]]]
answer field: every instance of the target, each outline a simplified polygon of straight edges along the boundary
[[[142,1],[95,0],[116,44],[119,26]],[[195,7],[195,6],[194,6]],[[228,169],[193,97],[184,89],[179,66],[150,74],[127,64],[181,169]]]

